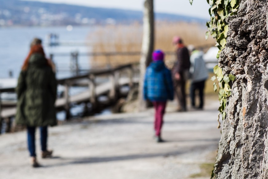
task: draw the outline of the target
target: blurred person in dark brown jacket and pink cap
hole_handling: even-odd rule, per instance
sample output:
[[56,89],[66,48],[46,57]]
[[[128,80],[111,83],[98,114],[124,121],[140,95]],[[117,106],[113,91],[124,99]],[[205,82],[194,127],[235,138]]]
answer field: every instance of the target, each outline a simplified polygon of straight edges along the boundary
[[180,37],[173,38],[173,44],[176,45],[177,61],[173,66],[172,73],[174,79],[174,89],[178,100],[178,111],[186,111],[185,84],[189,78],[190,57],[187,47],[184,46]]

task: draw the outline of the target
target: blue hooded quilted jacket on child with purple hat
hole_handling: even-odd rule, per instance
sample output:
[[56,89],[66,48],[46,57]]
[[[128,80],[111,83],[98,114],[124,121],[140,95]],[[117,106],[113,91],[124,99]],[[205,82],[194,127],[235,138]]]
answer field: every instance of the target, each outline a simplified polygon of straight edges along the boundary
[[144,99],[150,101],[173,100],[173,83],[171,72],[165,67],[163,61],[152,62],[146,69]]

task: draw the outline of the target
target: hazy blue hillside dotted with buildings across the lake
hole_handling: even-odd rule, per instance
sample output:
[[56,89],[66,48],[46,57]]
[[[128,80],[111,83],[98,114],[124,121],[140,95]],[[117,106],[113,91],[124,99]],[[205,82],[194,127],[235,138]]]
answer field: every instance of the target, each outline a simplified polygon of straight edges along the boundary
[[[0,26],[60,26],[142,22],[142,11],[45,2],[0,0]],[[157,20],[205,22],[201,18],[156,13]]]

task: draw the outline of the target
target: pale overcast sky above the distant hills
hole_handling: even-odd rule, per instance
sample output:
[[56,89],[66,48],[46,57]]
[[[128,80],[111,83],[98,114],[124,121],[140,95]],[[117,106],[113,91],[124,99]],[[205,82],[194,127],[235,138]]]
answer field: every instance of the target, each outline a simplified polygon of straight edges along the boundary
[[[142,10],[144,0],[30,0],[52,3],[65,3],[93,7]],[[182,14],[209,19],[209,5],[206,0],[154,0],[155,12]]]

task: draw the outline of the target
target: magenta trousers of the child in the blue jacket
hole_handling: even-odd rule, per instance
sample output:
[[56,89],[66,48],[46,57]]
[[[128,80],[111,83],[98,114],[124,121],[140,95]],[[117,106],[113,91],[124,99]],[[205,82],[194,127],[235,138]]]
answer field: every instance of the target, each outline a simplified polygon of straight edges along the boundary
[[160,136],[161,135],[161,128],[163,125],[163,116],[165,114],[165,108],[166,108],[166,101],[153,101],[153,106],[155,109],[155,115],[154,115],[154,130],[155,135]]

